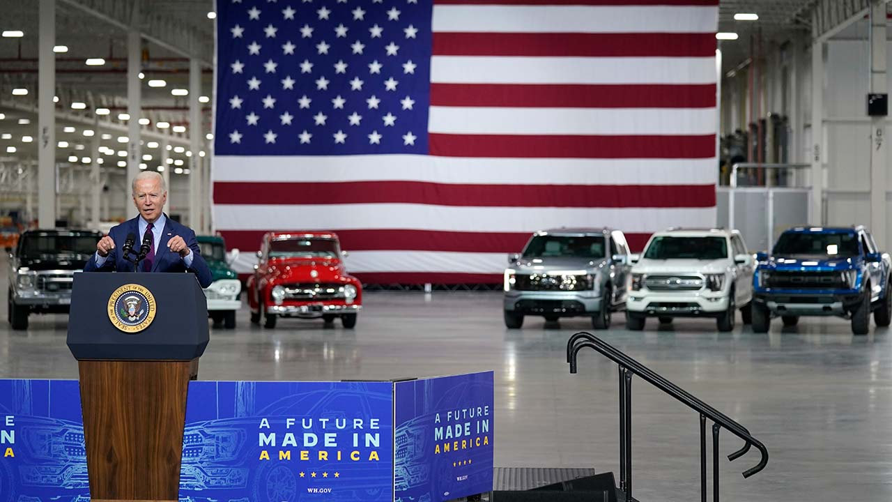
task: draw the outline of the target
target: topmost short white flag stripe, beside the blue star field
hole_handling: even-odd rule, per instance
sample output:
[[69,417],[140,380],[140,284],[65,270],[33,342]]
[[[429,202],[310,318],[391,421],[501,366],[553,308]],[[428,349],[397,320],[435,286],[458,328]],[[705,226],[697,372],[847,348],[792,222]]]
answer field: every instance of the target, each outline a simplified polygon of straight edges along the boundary
[[434,5],[434,32],[708,33],[714,6]]

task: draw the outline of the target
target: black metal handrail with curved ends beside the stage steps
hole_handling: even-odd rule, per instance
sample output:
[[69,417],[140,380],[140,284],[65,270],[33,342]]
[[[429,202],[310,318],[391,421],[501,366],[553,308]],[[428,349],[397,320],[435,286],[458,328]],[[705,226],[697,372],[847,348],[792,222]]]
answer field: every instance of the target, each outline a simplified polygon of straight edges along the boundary
[[724,427],[739,439],[744,441],[744,447],[728,456],[729,461],[734,461],[740,456],[747,453],[750,447],[755,446],[761,454],[759,463],[750,467],[743,472],[743,477],[748,478],[753,474],[762,471],[768,464],[768,449],[765,448],[761,441],[754,438],[746,427],[729,418],[727,415],[716,410],[713,406],[704,403],[698,397],[693,396],[690,392],[681,389],[673,382],[666,380],[663,376],[650,370],[644,364],[640,364],[632,357],[620,352],[615,347],[607,344],[605,341],[595,337],[588,332],[575,333],[567,341],[566,361],[570,364],[570,372],[576,372],[576,358],[579,351],[589,347],[598,351],[602,356],[606,356],[619,365],[619,390],[620,390],[620,488],[624,489],[627,498],[632,498],[632,374],[640,376],[644,381],[648,381],[657,389],[664,391],[666,394],[674,397],[684,405],[690,407],[700,415],[700,449],[701,449],[701,474],[702,480],[702,499],[706,500],[706,418],[713,421],[713,442],[714,442],[714,500],[718,501],[718,433]]

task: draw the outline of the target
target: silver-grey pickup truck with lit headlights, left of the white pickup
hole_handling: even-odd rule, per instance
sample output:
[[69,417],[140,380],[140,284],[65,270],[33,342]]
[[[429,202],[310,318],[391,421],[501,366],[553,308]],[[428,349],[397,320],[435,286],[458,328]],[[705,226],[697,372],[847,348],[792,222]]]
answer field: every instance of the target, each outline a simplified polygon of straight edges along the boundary
[[620,230],[555,229],[533,234],[523,253],[508,257],[505,325],[520,328],[525,315],[547,322],[591,317],[596,330],[625,305],[629,247]]

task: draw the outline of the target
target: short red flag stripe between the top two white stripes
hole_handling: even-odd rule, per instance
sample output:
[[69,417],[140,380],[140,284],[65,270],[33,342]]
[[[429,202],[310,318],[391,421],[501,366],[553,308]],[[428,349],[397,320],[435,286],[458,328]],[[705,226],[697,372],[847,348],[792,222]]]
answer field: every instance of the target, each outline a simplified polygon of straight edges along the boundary
[[707,57],[713,33],[434,32],[434,55]]

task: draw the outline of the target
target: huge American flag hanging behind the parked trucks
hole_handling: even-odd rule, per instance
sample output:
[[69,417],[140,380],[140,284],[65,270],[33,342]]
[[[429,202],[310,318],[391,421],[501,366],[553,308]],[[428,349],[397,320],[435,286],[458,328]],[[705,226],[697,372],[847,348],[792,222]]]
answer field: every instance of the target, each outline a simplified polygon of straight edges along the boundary
[[215,227],[243,251],[333,230],[365,282],[462,283],[535,230],[712,225],[717,4],[218,0]]

